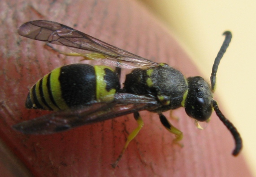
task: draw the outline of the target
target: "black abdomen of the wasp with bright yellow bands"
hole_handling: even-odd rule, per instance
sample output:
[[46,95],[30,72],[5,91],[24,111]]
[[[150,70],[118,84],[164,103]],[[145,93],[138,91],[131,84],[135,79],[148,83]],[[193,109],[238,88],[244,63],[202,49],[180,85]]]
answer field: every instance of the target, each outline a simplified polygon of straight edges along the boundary
[[26,107],[65,110],[104,99],[120,89],[116,72],[106,66],[71,64],[54,69],[29,91]]

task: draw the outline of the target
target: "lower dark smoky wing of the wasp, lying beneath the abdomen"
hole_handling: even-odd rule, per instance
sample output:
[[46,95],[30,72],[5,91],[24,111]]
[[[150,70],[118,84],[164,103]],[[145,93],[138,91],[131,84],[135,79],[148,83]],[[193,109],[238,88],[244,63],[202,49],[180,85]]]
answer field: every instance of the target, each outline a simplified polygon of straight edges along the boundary
[[141,110],[154,110],[157,107],[158,103],[152,97],[119,93],[111,102],[94,101],[83,107],[57,111],[21,122],[13,128],[24,134],[51,134]]

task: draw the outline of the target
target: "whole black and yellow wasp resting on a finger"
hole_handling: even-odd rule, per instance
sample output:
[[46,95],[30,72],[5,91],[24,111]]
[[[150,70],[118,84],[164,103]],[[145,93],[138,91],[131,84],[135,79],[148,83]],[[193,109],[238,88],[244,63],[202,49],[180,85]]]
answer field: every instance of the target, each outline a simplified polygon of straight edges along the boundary
[[[67,46],[76,53],[61,53],[98,60],[116,69],[82,63],[54,69],[30,89],[26,107],[55,112],[18,123],[14,129],[25,134],[51,134],[133,113],[138,127],[128,136],[113,164],[115,167],[143,126],[139,111],[157,113],[165,128],[176,135],[177,142],[182,139],[182,132],[162,112],[182,106],[187,115],[199,122],[208,121],[215,110],[234,137],[233,155],[239,154],[242,148],[239,132],[213,100],[217,68],[232,37],[229,31],[224,33],[225,41],[214,61],[211,85],[200,76],[185,78],[165,63],[144,59],[57,22],[29,21],[19,27],[18,34]],[[126,75],[123,88],[119,81],[121,68],[134,69]]]

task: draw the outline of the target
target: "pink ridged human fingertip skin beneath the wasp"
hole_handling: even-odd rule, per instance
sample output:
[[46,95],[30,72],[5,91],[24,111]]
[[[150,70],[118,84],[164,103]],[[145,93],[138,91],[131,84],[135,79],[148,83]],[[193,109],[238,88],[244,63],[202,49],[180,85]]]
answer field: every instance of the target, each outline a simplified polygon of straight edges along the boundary
[[243,154],[231,155],[233,138],[215,113],[201,131],[184,109],[174,111],[178,121],[170,119],[167,112],[166,117],[184,134],[184,147],[180,147],[173,143],[174,135],[165,130],[157,114],[141,112],[144,127],[115,169],[110,164],[137,126],[132,115],[52,135],[14,131],[11,126],[18,122],[49,114],[25,108],[30,87],[52,69],[81,59],[58,54],[44,42],[19,36],[17,28],[27,21],[57,21],[136,55],[168,63],[185,76],[200,73],[172,34],[137,1],[4,0],[1,4],[0,136],[33,175],[252,176]]

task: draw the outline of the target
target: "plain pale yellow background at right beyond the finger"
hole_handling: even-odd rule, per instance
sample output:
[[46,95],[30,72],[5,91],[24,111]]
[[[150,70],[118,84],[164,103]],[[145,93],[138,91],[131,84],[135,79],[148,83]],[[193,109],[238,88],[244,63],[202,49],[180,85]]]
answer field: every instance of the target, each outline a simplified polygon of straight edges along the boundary
[[217,72],[216,93],[242,135],[242,153],[256,176],[256,0],[141,1],[177,35],[208,80],[221,34],[233,33]]

